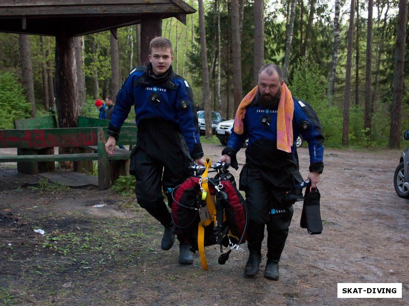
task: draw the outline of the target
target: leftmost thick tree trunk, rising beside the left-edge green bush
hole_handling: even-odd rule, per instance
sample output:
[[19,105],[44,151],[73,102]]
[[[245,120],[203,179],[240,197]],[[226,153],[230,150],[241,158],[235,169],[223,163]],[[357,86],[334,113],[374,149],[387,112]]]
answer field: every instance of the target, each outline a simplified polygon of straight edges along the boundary
[[35,117],[35,97],[33,82],[33,66],[31,63],[30,37],[27,34],[19,34],[20,56],[21,56],[21,77],[27,100],[31,104],[31,117]]

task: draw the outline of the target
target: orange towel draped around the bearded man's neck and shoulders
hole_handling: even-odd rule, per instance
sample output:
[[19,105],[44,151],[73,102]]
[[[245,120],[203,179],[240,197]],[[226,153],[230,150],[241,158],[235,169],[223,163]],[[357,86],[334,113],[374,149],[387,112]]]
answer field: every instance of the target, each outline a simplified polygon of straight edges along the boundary
[[[252,103],[257,94],[257,86],[248,92],[241,100],[234,118],[234,132],[243,134],[243,119],[246,113],[246,107]],[[292,118],[294,115],[294,101],[287,85],[283,83],[281,87],[280,102],[277,111],[277,148],[290,153],[293,142]]]

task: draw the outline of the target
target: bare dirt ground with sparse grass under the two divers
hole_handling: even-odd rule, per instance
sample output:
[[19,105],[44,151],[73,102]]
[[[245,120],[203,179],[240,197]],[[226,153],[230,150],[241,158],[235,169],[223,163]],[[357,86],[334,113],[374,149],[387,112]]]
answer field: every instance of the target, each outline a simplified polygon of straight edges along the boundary
[[[216,161],[222,146],[206,144],[204,150]],[[246,244],[225,265],[217,263],[219,250],[207,247],[208,271],[201,269],[197,253],[192,266],[179,265],[177,245],[160,249],[161,226],[130,207],[132,198],[110,190],[2,190],[0,303],[407,305],[409,201],[393,188],[399,155],[326,149],[319,185],[324,232],[311,236],[299,226],[302,203],[297,202],[278,282],[263,277],[265,257],[256,277],[244,277]],[[299,157],[306,177],[306,148],[299,149]],[[244,163],[244,150],[238,160]],[[402,283],[402,298],[338,299],[337,283]]]

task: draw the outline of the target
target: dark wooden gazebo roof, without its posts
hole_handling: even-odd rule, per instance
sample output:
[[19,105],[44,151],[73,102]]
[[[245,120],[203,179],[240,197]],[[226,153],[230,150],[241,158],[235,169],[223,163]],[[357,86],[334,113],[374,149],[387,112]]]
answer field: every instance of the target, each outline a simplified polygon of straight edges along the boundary
[[80,36],[196,12],[181,0],[2,0],[0,32]]

